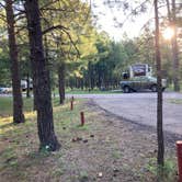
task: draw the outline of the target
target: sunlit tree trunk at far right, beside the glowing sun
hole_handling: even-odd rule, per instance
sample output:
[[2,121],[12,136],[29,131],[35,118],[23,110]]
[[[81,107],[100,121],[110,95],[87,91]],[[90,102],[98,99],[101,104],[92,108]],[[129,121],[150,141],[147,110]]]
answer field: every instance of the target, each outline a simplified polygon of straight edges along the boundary
[[177,20],[175,20],[175,0],[172,0],[172,19],[171,26],[173,27],[174,35],[172,42],[172,58],[173,58],[173,83],[174,91],[180,91],[179,82],[179,55],[178,55],[178,43],[177,43]]

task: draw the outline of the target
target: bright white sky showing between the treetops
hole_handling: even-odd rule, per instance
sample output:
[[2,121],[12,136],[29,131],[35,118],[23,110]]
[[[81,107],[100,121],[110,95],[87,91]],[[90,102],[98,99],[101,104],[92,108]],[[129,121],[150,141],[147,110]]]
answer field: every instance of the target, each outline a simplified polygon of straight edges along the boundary
[[[93,0],[92,1],[92,12],[98,15],[98,26],[101,31],[105,31],[115,41],[120,41],[123,37],[123,34],[126,33],[128,37],[136,37],[141,33],[144,25],[153,18],[153,9],[152,5],[147,10],[147,12],[143,15],[138,15],[132,20],[126,20],[126,14],[122,9],[114,5],[113,8],[109,8],[104,5],[104,0]],[[133,4],[134,7],[136,4]],[[116,27],[115,21],[113,18],[117,20],[117,22],[122,23],[125,21],[122,27]]]

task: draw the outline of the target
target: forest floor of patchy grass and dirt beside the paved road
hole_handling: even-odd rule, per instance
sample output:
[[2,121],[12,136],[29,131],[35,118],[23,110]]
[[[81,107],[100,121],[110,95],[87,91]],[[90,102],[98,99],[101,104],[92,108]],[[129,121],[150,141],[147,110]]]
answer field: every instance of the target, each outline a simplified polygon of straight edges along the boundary
[[[80,112],[86,125],[80,126]],[[156,181],[156,129],[107,113],[91,100],[76,100],[54,106],[59,151],[38,152],[36,117],[13,125],[0,117],[1,182],[152,182]],[[175,182],[175,137],[166,135],[166,166],[162,182]]]

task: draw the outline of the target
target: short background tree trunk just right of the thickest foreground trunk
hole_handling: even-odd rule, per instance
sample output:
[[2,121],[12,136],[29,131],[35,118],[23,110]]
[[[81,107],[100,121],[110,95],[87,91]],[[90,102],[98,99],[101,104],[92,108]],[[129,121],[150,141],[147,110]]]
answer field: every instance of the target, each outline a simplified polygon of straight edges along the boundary
[[64,104],[65,101],[65,62],[61,62],[58,69],[58,78],[59,78],[59,103]]

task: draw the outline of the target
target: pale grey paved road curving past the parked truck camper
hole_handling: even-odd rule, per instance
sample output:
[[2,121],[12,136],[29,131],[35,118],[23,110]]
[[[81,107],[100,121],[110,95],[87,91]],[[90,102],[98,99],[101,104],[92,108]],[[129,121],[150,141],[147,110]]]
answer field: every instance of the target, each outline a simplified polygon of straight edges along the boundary
[[[157,93],[87,94],[75,96],[93,99],[98,105],[113,114],[139,124],[156,126]],[[164,129],[182,134],[182,103],[172,103],[171,101],[173,100],[181,100],[182,102],[182,94],[169,92],[163,94]]]

